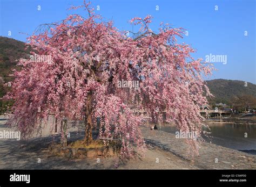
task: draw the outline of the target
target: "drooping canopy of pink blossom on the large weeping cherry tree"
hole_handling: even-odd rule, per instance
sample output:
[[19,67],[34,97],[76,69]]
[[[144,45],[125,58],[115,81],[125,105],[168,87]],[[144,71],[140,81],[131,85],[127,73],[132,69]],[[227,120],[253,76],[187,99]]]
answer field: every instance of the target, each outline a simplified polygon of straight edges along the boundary
[[[85,140],[90,142],[100,117],[99,135],[121,139],[123,157],[132,156],[134,147],[145,148],[139,128],[145,116],[200,134],[200,107],[207,105],[206,94],[210,95],[202,76],[210,74],[211,67],[194,60],[190,46],[177,43],[184,30],[162,24],[159,33],[153,33],[151,16],[136,17],[131,23],[142,26],[141,34],[124,37],[111,22],[101,21],[89,4],[78,8],[87,10],[89,17],[71,15],[28,38],[31,54],[48,55],[51,62],[19,60],[22,69],[14,72],[6,96],[15,100],[9,124],[27,136],[50,112],[57,119],[85,117]],[[138,81],[139,88],[119,88],[120,80]],[[198,150],[197,141],[188,143]]]

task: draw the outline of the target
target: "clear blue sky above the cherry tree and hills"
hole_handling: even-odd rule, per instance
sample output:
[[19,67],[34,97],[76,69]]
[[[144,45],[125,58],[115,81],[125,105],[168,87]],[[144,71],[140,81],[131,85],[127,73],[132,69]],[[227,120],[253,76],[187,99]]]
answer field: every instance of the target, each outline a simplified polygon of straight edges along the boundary
[[[64,19],[72,13],[87,16],[83,10],[67,10],[82,0],[0,0],[0,35],[26,41],[36,27]],[[157,31],[161,21],[183,27],[186,42],[197,49],[194,57],[226,55],[227,63],[213,62],[217,71],[210,79],[225,78],[256,84],[255,0],[96,0],[96,11],[106,20],[113,20],[119,30],[132,30],[133,17],[153,16],[151,28]],[[38,11],[38,5],[41,10]],[[218,10],[215,10],[215,6]],[[159,10],[156,10],[156,6]],[[8,32],[11,31],[11,35]],[[247,31],[247,36],[245,36]]]

